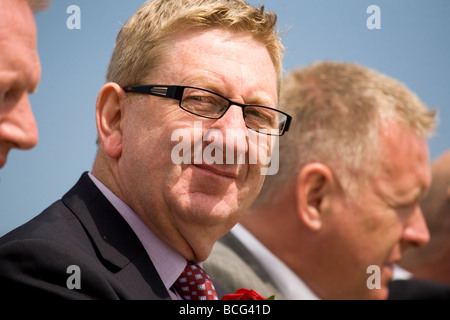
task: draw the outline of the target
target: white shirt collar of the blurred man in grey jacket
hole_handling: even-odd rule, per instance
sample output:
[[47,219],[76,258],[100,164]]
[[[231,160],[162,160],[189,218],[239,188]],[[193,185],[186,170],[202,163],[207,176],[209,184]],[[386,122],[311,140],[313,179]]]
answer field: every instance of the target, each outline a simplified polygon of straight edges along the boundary
[[255,255],[286,300],[319,300],[283,261],[242,225],[235,225],[231,232]]

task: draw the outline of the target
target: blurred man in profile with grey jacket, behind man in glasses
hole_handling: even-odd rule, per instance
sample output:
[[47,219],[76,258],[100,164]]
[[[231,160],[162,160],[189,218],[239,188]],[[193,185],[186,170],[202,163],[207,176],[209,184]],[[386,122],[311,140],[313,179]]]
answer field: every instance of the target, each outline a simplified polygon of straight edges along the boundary
[[399,81],[329,61],[289,72],[280,103],[295,121],[279,173],[205,269],[275,299],[386,299],[402,252],[429,239],[419,200],[435,113]]

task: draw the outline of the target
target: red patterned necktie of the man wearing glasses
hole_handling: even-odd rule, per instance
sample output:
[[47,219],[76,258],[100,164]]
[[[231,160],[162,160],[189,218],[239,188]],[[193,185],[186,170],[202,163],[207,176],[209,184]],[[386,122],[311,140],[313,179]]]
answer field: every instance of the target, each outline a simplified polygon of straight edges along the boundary
[[185,300],[218,300],[211,279],[197,264],[188,263],[174,286]]

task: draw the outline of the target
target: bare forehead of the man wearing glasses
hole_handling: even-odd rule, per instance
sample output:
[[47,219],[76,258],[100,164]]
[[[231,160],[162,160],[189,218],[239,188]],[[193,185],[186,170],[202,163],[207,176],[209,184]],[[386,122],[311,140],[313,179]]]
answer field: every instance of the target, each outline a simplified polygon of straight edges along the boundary
[[[227,48],[232,52],[224,53]],[[255,52],[261,54],[254,57]],[[277,103],[275,67],[266,47],[251,36],[229,30],[186,30],[172,37],[171,46],[146,82],[174,79],[176,83],[170,84],[202,87],[227,97],[233,95],[232,86],[243,82],[239,88],[251,91],[245,96],[251,96],[253,103]]]

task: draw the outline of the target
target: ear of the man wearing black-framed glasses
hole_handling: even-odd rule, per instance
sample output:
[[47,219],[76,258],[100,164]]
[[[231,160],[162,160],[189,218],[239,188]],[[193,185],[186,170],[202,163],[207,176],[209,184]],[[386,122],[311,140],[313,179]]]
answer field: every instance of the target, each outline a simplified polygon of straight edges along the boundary
[[105,153],[111,158],[122,154],[122,121],[125,92],[114,82],[103,86],[97,96],[95,119]]

